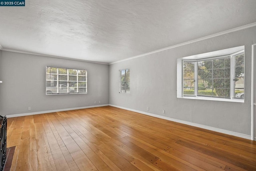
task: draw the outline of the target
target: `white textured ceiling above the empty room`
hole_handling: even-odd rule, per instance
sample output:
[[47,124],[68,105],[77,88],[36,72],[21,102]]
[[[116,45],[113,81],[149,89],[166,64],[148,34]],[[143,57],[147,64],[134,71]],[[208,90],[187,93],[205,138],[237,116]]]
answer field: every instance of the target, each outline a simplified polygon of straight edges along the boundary
[[254,22],[256,0],[26,0],[0,7],[0,45],[110,63]]

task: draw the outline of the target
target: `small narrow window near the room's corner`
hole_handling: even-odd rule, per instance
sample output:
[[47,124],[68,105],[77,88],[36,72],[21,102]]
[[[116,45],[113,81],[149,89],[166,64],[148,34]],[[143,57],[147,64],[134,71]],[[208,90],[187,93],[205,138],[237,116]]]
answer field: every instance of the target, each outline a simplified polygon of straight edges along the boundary
[[130,69],[119,70],[120,72],[120,92],[130,93]]

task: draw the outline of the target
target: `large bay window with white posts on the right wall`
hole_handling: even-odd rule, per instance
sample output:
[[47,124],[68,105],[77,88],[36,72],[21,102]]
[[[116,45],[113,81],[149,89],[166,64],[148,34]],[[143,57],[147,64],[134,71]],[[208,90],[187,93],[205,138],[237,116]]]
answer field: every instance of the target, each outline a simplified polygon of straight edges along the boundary
[[244,50],[198,56],[182,60],[182,97],[244,99]]

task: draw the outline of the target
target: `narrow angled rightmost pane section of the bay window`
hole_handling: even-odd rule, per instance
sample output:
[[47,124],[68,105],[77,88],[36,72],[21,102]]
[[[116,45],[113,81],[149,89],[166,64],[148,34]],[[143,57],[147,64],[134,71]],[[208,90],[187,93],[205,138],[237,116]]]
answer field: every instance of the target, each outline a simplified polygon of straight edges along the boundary
[[244,53],[235,56],[235,97],[244,99]]

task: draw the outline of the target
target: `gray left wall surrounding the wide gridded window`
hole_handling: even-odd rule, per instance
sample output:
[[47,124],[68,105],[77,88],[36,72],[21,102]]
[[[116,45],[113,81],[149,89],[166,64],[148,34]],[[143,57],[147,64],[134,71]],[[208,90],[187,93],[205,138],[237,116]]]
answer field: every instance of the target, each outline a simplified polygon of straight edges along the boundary
[[[88,93],[46,95],[46,66],[86,69]],[[104,64],[2,51],[1,115],[108,104],[108,74],[109,66]],[[31,107],[30,111],[28,107]]]

